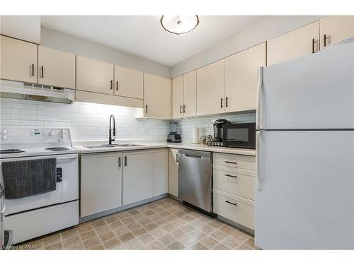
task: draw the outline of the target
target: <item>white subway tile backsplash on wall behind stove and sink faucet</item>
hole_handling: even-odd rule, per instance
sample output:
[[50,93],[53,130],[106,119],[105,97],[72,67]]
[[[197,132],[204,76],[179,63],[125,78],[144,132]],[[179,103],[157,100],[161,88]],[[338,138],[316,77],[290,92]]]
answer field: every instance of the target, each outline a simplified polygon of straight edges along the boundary
[[135,119],[135,108],[74,102],[72,105],[0,98],[0,126],[69,126],[74,141],[108,141],[110,114],[115,115],[116,139],[166,141],[169,122]]

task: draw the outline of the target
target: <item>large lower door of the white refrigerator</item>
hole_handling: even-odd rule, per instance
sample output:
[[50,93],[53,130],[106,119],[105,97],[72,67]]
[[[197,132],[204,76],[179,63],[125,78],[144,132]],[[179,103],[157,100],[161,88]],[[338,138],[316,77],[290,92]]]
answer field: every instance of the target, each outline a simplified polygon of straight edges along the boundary
[[354,249],[354,131],[258,132],[255,244]]

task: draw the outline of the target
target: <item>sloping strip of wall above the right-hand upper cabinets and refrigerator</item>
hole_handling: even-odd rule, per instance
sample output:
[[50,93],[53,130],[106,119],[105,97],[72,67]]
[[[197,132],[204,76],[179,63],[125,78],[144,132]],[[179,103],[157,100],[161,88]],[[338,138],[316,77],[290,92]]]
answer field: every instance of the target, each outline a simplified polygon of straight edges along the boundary
[[[198,69],[229,55],[240,52],[273,37],[295,30],[303,25],[312,23],[323,16],[269,16],[256,25],[217,43],[209,49],[195,54],[178,64],[171,66],[171,77]],[[200,22],[202,23],[202,22]]]

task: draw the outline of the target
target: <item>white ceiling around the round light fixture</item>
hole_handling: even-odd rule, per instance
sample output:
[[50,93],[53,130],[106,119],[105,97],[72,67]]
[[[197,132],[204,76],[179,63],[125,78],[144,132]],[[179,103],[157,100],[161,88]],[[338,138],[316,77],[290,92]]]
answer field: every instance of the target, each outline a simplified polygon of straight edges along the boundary
[[42,26],[172,66],[260,22],[264,16],[200,16],[195,30],[166,32],[160,16],[42,16]]

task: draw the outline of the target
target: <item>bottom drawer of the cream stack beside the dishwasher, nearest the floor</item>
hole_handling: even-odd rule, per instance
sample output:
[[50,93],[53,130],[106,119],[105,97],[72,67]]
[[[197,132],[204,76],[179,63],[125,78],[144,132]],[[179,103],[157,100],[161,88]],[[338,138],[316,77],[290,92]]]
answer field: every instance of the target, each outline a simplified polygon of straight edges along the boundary
[[254,230],[254,201],[213,189],[213,205],[214,213]]

